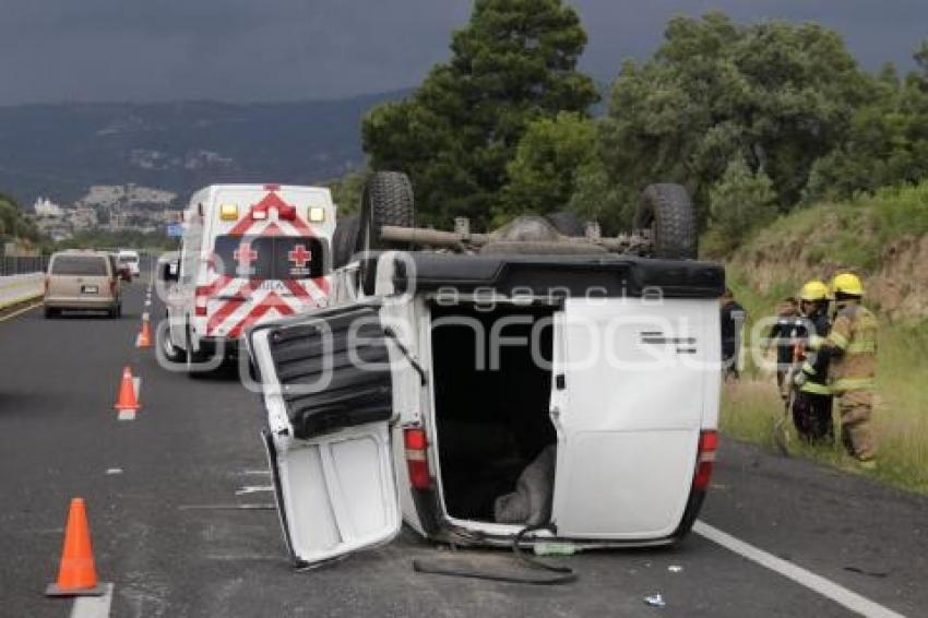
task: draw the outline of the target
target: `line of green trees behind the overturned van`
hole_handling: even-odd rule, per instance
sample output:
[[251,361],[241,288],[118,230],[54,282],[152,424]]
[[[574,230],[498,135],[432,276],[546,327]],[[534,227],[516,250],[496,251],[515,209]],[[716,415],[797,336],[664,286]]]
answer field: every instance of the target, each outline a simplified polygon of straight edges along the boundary
[[407,173],[437,225],[569,210],[617,231],[644,187],[679,182],[717,252],[806,203],[928,176],[928,41],[917,70],[870,74],[817,24],[677,16],[599,116],[586,43],[561,0],[476,0],[451,59],[364,118],[369,165]]

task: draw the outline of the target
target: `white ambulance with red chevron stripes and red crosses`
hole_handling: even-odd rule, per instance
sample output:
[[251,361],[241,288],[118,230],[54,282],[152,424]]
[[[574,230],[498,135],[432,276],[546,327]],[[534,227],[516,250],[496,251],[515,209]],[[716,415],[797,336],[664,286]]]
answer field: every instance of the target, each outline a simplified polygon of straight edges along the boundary
[[335,205],[329,189],[213,185],[183,212],[179,252],[158,270],[165,359],[190,372],[238,354],[243,329],[325,307]]

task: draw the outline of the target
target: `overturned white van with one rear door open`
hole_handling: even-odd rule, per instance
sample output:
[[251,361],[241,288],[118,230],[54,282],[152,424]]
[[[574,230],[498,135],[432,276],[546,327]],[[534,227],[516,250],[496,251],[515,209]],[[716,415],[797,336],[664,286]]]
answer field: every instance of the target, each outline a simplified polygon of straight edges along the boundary
[[507,247],[367,252],[333,306],[249,331],[297,566],[404,520],[457,545],[689,531],[716,448],[722,268]]

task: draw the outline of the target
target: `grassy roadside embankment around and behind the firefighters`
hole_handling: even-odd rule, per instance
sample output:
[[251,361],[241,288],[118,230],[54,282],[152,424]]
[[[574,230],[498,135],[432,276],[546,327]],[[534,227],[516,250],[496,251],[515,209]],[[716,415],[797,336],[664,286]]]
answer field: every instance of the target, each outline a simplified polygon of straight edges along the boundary
[[[750,330],[810,276],[825,278],[836,269],[854,268],[868,275],[868,283],[881,283],[892,266],[887,261],[893,259],[885,247],[926,233],[928,185],[813,206],[775,222],[733,255],[729,285],[749,312]],[[928,257],[923,263],[928,270]],[[897,283],[903,289],[908,284]],[[870,300],[879,311],[879,298]],[[879,468],[867,475],[928,494],[928,307],[920,316],[881,317],[878,360],[873,418]],[[742,381],[725,388],[723,432],[773,448],[773,425],[782,414],[774,377],[749,360]],[[792,421],[790,431],[790,445],[797,453],[830,465],[848,465],[840,445],[801,444]]]

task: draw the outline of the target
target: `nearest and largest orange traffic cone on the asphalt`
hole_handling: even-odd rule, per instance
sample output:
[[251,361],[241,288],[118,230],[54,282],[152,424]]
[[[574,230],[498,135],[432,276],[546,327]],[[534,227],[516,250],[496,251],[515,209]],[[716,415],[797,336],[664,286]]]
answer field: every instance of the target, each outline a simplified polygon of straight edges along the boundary
[[97,582],[84,499],[73,498],[68,511],[68,525],[64,528],[64,547],[61,550],[58,581],[48,584],[45,594],[46,596],[99,596],[104,592],[106,586]]

